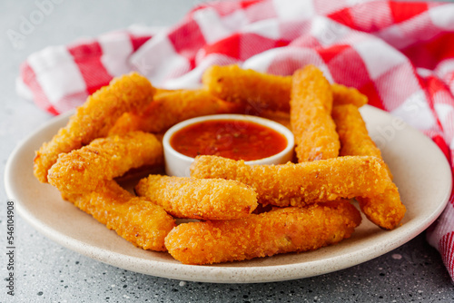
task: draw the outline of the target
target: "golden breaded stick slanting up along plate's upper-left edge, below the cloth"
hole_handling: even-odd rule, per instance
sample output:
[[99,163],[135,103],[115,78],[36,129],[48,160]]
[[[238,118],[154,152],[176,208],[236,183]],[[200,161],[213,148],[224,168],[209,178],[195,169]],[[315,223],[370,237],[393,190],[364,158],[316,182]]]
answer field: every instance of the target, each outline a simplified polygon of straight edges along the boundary
[[108,86],[89,96],[67,125],[36,152],[35,177],[47,182],[47,171],[60,153],[71,152],[96,138],[106,136],[123,112],[148,105],[154,92],[155,89],[146,78],[138,73],[130,73],[115,78]]

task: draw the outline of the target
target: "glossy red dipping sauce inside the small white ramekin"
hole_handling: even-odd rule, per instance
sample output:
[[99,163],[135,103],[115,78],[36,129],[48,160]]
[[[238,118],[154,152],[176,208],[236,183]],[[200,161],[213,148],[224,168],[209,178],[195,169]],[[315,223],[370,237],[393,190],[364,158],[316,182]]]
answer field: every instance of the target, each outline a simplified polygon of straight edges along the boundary
[[255,122],[212,120],[188,125],[175,132],[170,144],[188,157],[216,155],[253,161],[282,152],[287,139],[280,132]]

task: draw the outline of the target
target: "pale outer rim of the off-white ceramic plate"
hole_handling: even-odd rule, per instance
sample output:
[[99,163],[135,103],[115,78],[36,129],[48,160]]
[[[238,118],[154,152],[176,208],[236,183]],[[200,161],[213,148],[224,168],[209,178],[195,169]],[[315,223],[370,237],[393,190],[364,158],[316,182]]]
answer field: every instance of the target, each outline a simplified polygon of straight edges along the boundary
[[[370,111],[370,112],[378,112],[378,114],[386,114],[392,117],[389,112],[384,112],[378,108],[372,107],[370,105],[364,105],[363,108],[361,109],[361,112],[363,111]],[[10,183],[10,176],[12,175],[12,166],[14,161],[16,160],[17,155],[20,152],[23,152],[25,150],[25,147],[28,144],[30,144],[30,141],[39,133],[44,132],[48,128],[52,128],[54,124],[57,124],[59,122],[63,122],[64,120],[67,120],[69,116],[74,113],[74,111],[66,112],[64,114],[61,114],[59,116],[54,117],[53,119],[45,122],[41,127],[35,130],[35,132],[32,132],[28,136],[25,137],[24,140],[21,142],[18,142],[18,144],[15,146],[15,149],[13,152],[10,153],[10,156],[8,157],[8,161],[6,162],[5,165],[5,191],[6,191],[6,196],[8,200],[14,200],[15,201],[15,209],[19,213],[19,215],[27,221],[28,224],[30,224],[32,227],[35,228],[35,230],[39,231],[42,233],[46,238],[53,240],[54,242],[64,246],[67,249],[71,249],[77,253],[80,253],[88,258],[95,259],[98,261],[101,261],[105,264],[112,265],[114,267],[120,268],[120,269],[127,269],[127,270],[132,270],[134,272],[138,273],[143,273],[146,275],[152,275],[155,277],[162,277],[162,278],[168,278],[168,279],[180,279],[180,280],[191,280],[191,281],[197,281],[197,282],[210,282],[210,283],[263,283],[263,282],[276,282],[276,281],[282,281],[282,280],[291,280],[291,279],[303,279],[303,278],[310,278],[334,271],[338,271],[341,269],[346,269],[354,265],[358,265],[360,263],[366,262],[370,259],[374,259],[377,257],[380,257],[381,255],[389,252],[392,249],[396,249],[400,247],[401,245],[405,244],[406,242],[410,241],[410,239],[414,239],[416,236],[419,235],[422,231],[426,230],[437,218],[439,215],[442,213],[442,211],[445,209],[448,201],[449,201],[449,196],[450,192],[452,191],[452,175],[450,173],[450,167],[449,167],[449,162],[446,160],[446,157],[444,154],[439,150],[438,146],[435,144],[435,142],[432,142],[429,137],[425,136],[423,133],[419,132],[415,128],[411,127],[409,124],[406,124],[406,127],[410,128],[410,131],[412,132],[417,132],[419,136],[424,137],[425,140],[428,141],[428,143],[433,144],[435,147],[437,147],[437,151],[439,152],[439,155],[445,159],[445,168],[448,169],[449,173],[447,173],[447,177],[449,178],[449,191],[446,192],[444,201],[442,203],[439,203],[439,207],[437,210],[435,210],[433,213],[431,213],[426,220],[423,220],[423,224],[420,224],[418,227],[413,227],[413,229],[410,229],[412,226],[411,221],[405,223],[406,225],[410,225],[409,227],[404,227],[403,230],[401,230],[402,226],[398,228],[400,232],[398,233],[393,233],[394,230],[390,231],[385,231],[390,233],[390,245],[383,245],[382,247],[379,247],[377,249],[358,249],[354,252],[350,252],[347,255],[349,255],[349,260],[350,261],[345,261],[345,255],[338,255],[338,256],[333,256],[329,258],[330,260],[336,261],[337,259],[342,259],[342,266],[333,266],[331,269],[324,269],[318,271],[316,274],[313,272],[305,274],[305,269],[308,267],[305,262],[300,262],[300,263],[291,263],[291,264],[285,264],[285,265],[270,265],[266,267],[222,267],[222,265],[208,265],[208,266],[200,266],[200,265],[185,265],[182,263],[169,263],[169,262],[164,262],[161,260],[153,260],[153,259],[142,259],[142,258],[137,258],[134,256],[127,256],[124,255],[120,252],[117,251],[105,251],[103,248],[95,247],[93,245],[84,245],[84,241],[81,241],[80,239],[75,239],[71,236],[68,236],[61,232],[60,230],[54,230],[52,227],[47,226],[44,222],[38,220],[32,213],[30,213],[25,205],[20,201],[18,197],[16,197],[15,191],[13,190],[13,185]],[[439,156],[438,155],[438,156]],[[447,171],[447,172],[448,172]],[[48,184],[43,184],[48,185]],[[50,186],[50,185],[48,185]],[[404,226],[406,226],[404,225]],[[404,235],[404,237],[401,236],[401,234]],[[398,236],[399,235],[399,236]],[[392,239],[392,240],[391,240]],[[348,240],[348,239],[346,239]],[[86,249],[84,249],[86,248]],[[88,250],[87,250],[88,249]],[[324,248],[324,249],[329,249]],[[107,256],[108,255],[108,256]],[[366,256],[366,257],[365,257]],[[126,264],[124,263],[124,258],[126,259],[133,259],[137,264],[135,266],[131,266],[130,262],[127,262]],[[269,257],[270,258],[270,257]],[[272,258],[272,257],[271,257]],[[360,262],[358,262],[356,259],[361,259]],[[309,264],[312,268],[317,267],[319,263],[324,263],[326,262],[327,259],[321,259],[321,260],[311,260]],[[141,264],[143,262],[147,263],[146,269],[149,269],[150,266],[152,268],[155,268],[155,271],[153,273],[150,272],[150,270],[145,270],[145,267],[141,267]],[[129,265],[128,265],[129,264]],[[276,270],[285,270],[289,266],[292,267],[291,274],[289,275],[281,275],[278,279],[278,277],[275,277],[273,275],[267,275],[271,271],[276,271]],[[253,270],[252,270],[253,269]],[[294,270],[294,269],[300,269],[300,270]],[[251,274],[251,271],[254,271],[253,274]],[[220,279],[220,277],[223,277],[223,279]],[[196,279],[196,277],[198,279]]]

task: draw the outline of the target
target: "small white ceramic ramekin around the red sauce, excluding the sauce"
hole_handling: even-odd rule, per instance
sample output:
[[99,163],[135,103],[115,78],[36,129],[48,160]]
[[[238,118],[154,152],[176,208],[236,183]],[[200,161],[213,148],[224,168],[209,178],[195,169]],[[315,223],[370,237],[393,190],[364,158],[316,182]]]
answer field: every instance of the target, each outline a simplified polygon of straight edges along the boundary
[[281,152],[278,152],[271,157],[254,160],[254,161],[245,161],[246,164],[281,164],[286,163],[292,160],[293,157],[293,147],[295,145],[293,134],[285,126],[281,125],[278,122],[273,122],[268,119],[261,117],[245,115],[245,114],[214,114],[209,116],[202,116],[197,118],[192,118],[185,120],[178,124],[173,125],[167,132],[165,132],[163,137],[163,149],[164,149],[164,158],[165,158],[165,172],[169,176],[177,177],[189,177],[190,175],[190,166],[194,161],[194,158],[183,155],[180,152],[176,152],[170,144],[170,140],[173,136],[173,133],[180,131],[188,125],[192,125],[199,122],[212,121],[212,120],[231,120],[231,121],[245,121],[245,122],[255,122],[263,126],[269,127],[276,132],[280,132],[287,139],[287,146]]

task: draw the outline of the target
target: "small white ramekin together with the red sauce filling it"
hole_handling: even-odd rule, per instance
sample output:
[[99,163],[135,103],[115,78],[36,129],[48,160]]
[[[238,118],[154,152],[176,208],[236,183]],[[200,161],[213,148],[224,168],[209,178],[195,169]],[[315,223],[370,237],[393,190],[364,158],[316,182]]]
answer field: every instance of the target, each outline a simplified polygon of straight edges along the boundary
[[199,155],[216,155],[246,164],[281,164],[293,157],[291,131],[278,122],[242,114],[216,114],[173,125],[163,136],[165,171],[189,177]]

